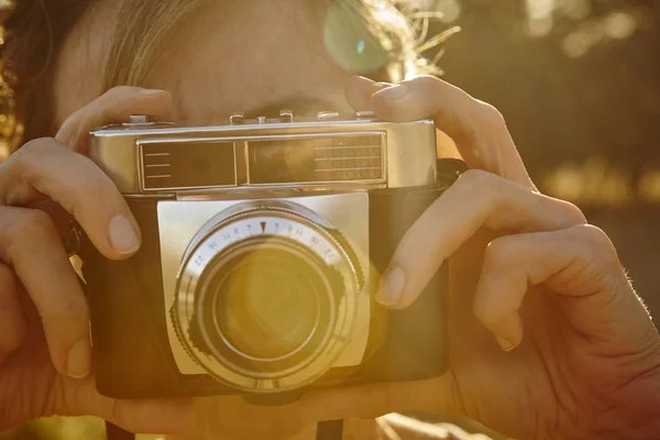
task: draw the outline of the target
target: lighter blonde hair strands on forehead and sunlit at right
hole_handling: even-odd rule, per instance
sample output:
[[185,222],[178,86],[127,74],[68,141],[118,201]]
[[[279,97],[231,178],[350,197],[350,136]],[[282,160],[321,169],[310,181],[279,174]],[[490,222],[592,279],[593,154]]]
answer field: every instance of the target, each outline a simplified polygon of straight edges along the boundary
[[[170,36],[175,25],[208,1],[211,0],[125,1],[119,12],[116,36],[107,57],[105,88],[144,84],[163,42]],[[458,31],[453,28],[427,40],[429,20],[437,14],[407,10],[406,2],[400,0],[328,0],[323,3],[345,13],[344,18],[349,18],[346,23],[363,26],[386,54],[387,61],[381,72],[386,72],[387,79],[393,81],[420,74],[440,74],[437,59],[429,62],[422,52]]]

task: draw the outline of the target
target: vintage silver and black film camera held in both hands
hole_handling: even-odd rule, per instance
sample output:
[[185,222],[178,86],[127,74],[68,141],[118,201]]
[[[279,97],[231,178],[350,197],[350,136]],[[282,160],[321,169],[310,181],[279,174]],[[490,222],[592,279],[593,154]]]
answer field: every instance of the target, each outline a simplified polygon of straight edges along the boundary
[[431,121],[132,117],[94,131],[90,156],[143,235],[122,262],[82,242],[102,394],[276,399],[446,370],[444,268],[405,310],[373,299],[403,234],[464,169],[437,163]]

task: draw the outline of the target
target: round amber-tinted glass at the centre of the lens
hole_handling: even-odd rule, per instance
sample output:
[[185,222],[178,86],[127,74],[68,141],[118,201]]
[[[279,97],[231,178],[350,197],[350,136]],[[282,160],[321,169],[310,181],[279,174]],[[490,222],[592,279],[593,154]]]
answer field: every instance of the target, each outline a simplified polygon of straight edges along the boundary
[[266,242],[213,272],[207,293],[212,326],[237,354],[287,356],[304,348],[321,324],[323,280],[305,254]]

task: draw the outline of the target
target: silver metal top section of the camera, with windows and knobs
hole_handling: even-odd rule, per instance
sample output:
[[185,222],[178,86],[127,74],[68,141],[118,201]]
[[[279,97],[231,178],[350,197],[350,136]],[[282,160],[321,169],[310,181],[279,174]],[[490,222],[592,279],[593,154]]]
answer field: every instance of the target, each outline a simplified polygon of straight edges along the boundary
[[432,121],[370,111],[316,119],[235,113],[224,125],[129,121],[90,133],[90,157],[127,196],[400,188],[436,183]]

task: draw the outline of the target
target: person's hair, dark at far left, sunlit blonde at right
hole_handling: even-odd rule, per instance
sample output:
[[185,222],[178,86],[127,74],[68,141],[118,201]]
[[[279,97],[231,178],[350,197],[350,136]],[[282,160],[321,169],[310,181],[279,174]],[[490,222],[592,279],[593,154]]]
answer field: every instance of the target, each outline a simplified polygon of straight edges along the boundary
[[[120,1],[120,0],[116,0]],[[106,58],[106,89],[117,85],[141,85],[173,28],[189,12],[207,1],[217,0],[131,0],[120,8],[113,41]],[[277,1],[277,0],[273,0]],[[319,1],[319,0],[310,0]],[[56,61],[68,33],[99,0],[14,0],[6,12],[0,38],[0,63],[3,82],[0,84],[0,135],[14,143],[52,135],[53,77]],[[400,2],[400,1],[398,1]],[[405,3],[405,2],[400,2]],[[441,43],[448,35],[426,38],[428,13],[397,8],[395,0],[327,0],[334,23],[342,23],[339,35],[353,35],[362,46],[372,47],[373,72],[362,74],[387,76],[400,80],[420,73],[438,73],[435,63],[421,57],[421,52]],[[408,15],[405,13],[408,12]],[[145,25],[148,23],[148,25]],[[328,31],[328,30],[327,30]],[[338,35],[330,29],[327,34]],[[342,40],[343,38],[343,40]],[[341,57],[345,37],[330,42],[330,48]],[[338,48],[339,47],[339,48]],[[350,51],[349,51],[350,52]],[[352,69],[352,58],[344,57],[345,68]],[[383,75],[383,73],[386,73]],[[4,123],[4,127],[2,124]],[[11,127],[9,127],[11,125]]]

